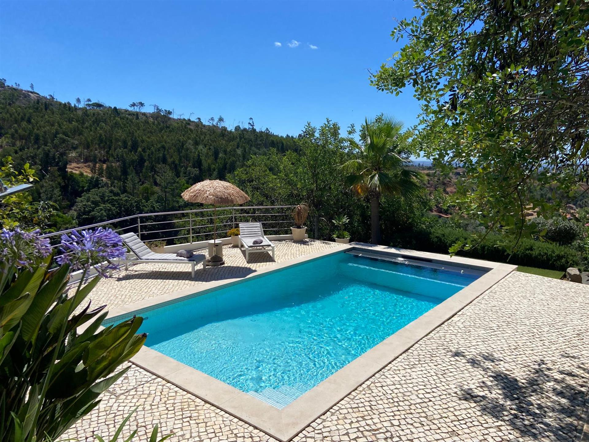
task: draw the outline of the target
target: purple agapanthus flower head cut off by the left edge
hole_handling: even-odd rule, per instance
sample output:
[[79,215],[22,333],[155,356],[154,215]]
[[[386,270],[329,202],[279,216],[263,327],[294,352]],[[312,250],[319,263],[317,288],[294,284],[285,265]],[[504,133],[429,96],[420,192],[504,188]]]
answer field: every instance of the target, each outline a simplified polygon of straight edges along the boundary
[[[51,253],[49,240],[39,238],[39,229],[25,232],[18,227],[2,229],[0,233],[0,258],[7,266],[24,267],[32,270]],[[4,266],[3,266],[4,267]]]

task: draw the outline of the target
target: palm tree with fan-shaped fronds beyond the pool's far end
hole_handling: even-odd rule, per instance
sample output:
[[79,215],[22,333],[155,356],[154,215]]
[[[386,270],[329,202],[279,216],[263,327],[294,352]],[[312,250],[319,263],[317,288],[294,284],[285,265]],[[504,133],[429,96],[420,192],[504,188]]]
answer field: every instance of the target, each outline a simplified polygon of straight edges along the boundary
[[408,197],[422,192],[422,174],[406,169],[409,165],[403,123],[388,116],[366,118],[360,143],[350,139],[355,159],[342,168],[346,183],[359,197],[370,200],[371,242],[380,242],[379,203],[382,194]]

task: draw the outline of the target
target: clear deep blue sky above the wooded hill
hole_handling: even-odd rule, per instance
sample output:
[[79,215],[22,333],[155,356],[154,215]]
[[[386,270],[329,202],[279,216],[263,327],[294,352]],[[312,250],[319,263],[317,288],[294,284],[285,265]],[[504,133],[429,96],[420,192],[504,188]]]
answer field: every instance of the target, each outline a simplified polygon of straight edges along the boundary
[[72,103],[143,101],[185,118],[221,115],[228,127],[253,117],[278,134],[326,117],[358,126],[380,112],[409,126],[412,92],[376,91],[367,68],[401,47],[393,18],[415,11],[410,0],[0,0],[0,77]]

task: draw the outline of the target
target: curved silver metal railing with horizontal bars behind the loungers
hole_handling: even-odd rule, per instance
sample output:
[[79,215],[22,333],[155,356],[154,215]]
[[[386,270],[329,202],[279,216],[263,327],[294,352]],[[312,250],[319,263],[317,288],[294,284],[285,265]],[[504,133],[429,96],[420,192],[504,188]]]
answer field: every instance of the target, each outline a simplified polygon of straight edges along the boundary
[[[59,237],[73,230],[110,227],[117,233],[135,232],[146,242],[163,241],[166,245],[193,243],[213,238],[216,216],[217,238],[239,227],[240,222],[261,222],[268,235],[286,235],[294,224],[292,209],[295,206],[237,206],[217,209],[178,210],[176,212],[140,213],[74,229],[46,233],[52,245]],[[210,237],[210,238],[209,238]]]

